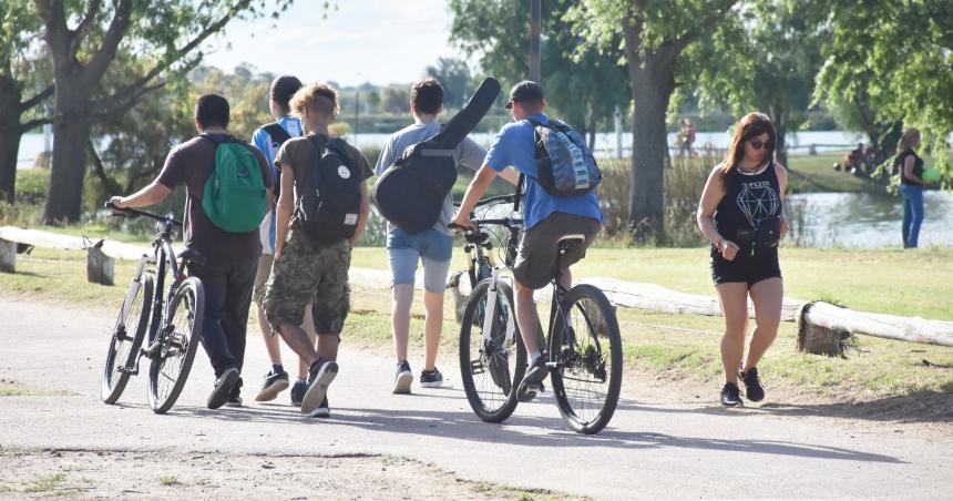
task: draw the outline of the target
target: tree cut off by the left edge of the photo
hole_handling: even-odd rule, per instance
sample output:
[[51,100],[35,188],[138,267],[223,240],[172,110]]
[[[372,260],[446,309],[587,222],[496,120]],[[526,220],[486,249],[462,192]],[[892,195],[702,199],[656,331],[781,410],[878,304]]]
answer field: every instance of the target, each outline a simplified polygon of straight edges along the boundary
[[53,94],[40,78],[42,48],[35,42],[40,22],[28,0],[0,2],[0,201],[13,203],[20,139],[48,123],[37,110]]

